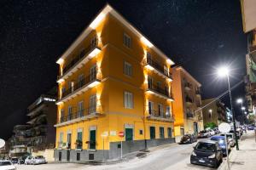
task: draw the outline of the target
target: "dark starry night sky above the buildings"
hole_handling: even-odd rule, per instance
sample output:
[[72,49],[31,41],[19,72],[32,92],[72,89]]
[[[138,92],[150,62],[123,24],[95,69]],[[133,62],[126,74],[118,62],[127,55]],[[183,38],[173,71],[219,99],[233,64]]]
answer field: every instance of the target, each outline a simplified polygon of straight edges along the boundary
[[[56,85],[56,59],[106,3],[0,2],[0,138],[8,139],[13,126],[25,123],[27,106]],[[201,82],[203,98],[227,89],[226,80],[212,74],[218,65],[230,65],[232,84],[245,75],[247,36],[242,32],[239,0],[108,3]],[[232,93],[234,99],[244,95],[243,86]],[[224,101],[229,105],[228,98]]]

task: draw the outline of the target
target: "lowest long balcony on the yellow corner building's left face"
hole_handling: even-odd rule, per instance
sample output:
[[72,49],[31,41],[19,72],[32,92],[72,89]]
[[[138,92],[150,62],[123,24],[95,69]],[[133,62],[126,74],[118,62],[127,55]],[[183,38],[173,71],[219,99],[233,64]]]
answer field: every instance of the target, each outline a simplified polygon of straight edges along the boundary
[[101,114],[102,114],[101,105],[91,106],[82,111],[77,111],[67,116],[62,116],[59,122],[55,125],[55,127],[61,127],[67,124],[72,124],[74,122],[80,122],[80,121],[92,119],[97,116],[100,116]]

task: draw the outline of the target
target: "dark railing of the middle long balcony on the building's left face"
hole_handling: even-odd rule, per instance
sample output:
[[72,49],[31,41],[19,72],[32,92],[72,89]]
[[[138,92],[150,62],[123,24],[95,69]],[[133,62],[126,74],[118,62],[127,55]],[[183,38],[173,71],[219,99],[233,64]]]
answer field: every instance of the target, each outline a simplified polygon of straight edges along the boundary
[[61,99],[66,97],[68,94],[72,94],[74,91],[78,90],[79,88],[84,87],[86,84],[90,84],[90,82],[100,81],[100,80],[101,80],[101,77],[100,75],[98,75],[97,71],[90,73],[89,76],[82,78],[78,82],[74,82],[73,87],[67,88],[67,90],[62,92]]

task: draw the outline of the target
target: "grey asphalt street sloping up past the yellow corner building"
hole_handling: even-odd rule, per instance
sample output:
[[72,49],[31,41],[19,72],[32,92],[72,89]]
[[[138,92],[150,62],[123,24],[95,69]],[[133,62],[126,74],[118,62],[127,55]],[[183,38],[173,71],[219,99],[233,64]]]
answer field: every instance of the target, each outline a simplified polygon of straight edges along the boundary
[[[207,139],[199,139],[207,140]],[[33,169],[61,169],[61,170],[106,170],[106,169],[212,169],[211,167],[203,167],[192,165],[189,161],[189,156],[193,150],[194,144],[168,144],[165,146],[156,147],[150,150],[150,153],[145,157],[136,157],[130,161],[119,162],[115,164],[105,165],[84,165],[74,163],[49,163],[44,165],[18,165],[18,170],[33,170]]]

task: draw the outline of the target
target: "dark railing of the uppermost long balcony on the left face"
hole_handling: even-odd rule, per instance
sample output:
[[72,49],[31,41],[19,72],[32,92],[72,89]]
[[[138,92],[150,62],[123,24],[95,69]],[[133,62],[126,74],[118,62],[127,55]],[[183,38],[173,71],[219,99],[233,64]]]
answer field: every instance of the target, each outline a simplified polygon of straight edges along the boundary
[[77,64],[81,59],[84,58],[86,54],[89,54],[97,46],[98,46],[98,41],[96,40],[96,43],[91,43],[87,48],[84,48],[84,50],[82,50],[80,54],[73,57],[73,59],[71,59],[71,61],[69,61],[69,63],[67,63],[67,65],[64,66],[62,70],[62,75],[64,75],[67,71],[69,71],[73,67],[73,65]]

